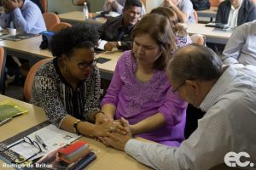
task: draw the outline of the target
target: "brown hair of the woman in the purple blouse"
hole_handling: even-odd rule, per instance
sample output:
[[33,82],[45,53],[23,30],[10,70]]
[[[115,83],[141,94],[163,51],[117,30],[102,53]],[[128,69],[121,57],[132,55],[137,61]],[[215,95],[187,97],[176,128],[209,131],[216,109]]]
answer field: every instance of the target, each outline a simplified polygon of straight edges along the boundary
[[160,46],[161,55],[154,62],[154,69],[166,70],[166,63],[171,58],[172,52],[177,49],[172,28],[166,17],[160,14],[147,14],[138,21],[131,32],[134,40],[138,34],[148,34]]

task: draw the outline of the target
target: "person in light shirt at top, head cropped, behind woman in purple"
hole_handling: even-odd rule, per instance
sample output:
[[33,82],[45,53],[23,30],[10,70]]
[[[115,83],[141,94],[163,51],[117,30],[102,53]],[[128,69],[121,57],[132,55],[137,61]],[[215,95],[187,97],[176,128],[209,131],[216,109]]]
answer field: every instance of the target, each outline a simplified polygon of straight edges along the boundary
[[160,6],[172,8],[179,22],[195,23],[194,8],[190,0],[164,0]]

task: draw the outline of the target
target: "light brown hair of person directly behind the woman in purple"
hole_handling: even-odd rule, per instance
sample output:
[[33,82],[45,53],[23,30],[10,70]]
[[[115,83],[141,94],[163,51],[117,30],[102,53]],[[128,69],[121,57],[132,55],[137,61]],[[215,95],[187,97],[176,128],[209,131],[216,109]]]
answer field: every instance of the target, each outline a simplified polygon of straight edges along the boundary
[[185,28],[177,23],[177,14],[172,8],[158,7],[151,10],[150,14],[161,14],[165,16],[171,24],[172,31],[175,35],[184,37],[187,35]]

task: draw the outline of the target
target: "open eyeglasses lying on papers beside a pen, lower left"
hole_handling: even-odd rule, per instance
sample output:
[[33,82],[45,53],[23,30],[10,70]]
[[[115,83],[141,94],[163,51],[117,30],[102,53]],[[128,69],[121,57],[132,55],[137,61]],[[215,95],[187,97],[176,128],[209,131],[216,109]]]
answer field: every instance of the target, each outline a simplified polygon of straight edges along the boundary
[[12,161],[11,163],[16,163],[16,164],[21,164],[24,163],[26,161],[29,161],[30,159],[32,159],[32,157],[34,156],[38,156],[39,153],[41,153],[43,150],[41,149],[41,147],[39,146],[39,144],[36,141],[32,141],[32,139],[28,138],[27,136],[25,136],[23,139],[21,139],[19,142],[10,145],[9,147],[5,148],[4,150],[0,150],[1,152],[4,152],[5,150],[9,150],[10,148],[14,147],[15,145],[21,144],[21,143],[27,143],[27,144],[32,144],[36,149],[38,149],[38,151],[33,154],[32,156],[29,156],[28,158],[26,158],[24,161],[19,161],[19,162],[15,162]]

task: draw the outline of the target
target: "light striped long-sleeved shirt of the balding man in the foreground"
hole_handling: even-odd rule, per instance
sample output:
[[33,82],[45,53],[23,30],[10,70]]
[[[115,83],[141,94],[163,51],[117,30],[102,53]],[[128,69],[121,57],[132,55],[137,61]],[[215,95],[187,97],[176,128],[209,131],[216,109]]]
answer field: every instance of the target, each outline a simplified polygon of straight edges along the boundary
[[224,156],[230,151],[247,152],[255,166],[255,72],[247,66],[230,65],[202,101],[200,108],[207,111],[206,115],[180,147],[131,139],[125,145],[125,151],[155,169],[210,169],[223,163]]

